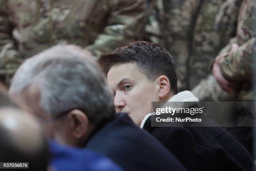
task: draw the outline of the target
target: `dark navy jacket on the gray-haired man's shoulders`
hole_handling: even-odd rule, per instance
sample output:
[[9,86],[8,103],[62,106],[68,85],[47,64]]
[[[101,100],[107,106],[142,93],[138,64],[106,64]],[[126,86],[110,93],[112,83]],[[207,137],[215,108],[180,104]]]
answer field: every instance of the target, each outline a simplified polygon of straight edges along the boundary
[[125,171],[185,171],[158,140],[120,113],[94,133],[85,145],[108,156]]

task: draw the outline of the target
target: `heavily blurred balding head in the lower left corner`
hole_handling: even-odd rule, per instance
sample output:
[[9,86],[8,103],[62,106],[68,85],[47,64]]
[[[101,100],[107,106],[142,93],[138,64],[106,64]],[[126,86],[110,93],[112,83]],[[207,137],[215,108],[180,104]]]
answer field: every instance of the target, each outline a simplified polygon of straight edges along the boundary
[[40,125],[15,105],[1,86],[0,135],[1,162],[29,162],[29,170],[46,171],[49,153]]

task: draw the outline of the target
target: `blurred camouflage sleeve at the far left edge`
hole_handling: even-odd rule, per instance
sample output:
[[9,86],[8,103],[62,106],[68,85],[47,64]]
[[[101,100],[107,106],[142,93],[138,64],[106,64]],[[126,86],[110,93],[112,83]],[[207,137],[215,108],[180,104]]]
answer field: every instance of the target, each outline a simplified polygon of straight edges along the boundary
[[13,40],[13,13],[8,7],[8,0],[0,0],[0,81],[9,84],[20,60]]

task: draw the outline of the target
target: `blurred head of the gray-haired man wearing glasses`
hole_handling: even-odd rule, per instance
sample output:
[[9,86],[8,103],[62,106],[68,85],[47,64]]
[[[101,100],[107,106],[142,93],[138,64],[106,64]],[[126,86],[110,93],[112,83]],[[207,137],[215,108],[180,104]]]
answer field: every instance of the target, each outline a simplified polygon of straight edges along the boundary
[[104,75],[77,46],[54,46],[26,60],[9,93],[62,144],[83,146],[95,126],[114,115]]

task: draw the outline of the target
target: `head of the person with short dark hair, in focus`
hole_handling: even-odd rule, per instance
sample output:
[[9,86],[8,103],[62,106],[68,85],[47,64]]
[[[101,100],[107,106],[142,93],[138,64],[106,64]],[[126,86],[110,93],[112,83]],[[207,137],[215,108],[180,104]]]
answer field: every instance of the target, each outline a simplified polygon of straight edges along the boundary
[[117,112],[126,112],[136,124],[150,113],[151,102],[177,94],[172,56],[154,43],[137,41],[117,48],[99,60],[115,94]]

